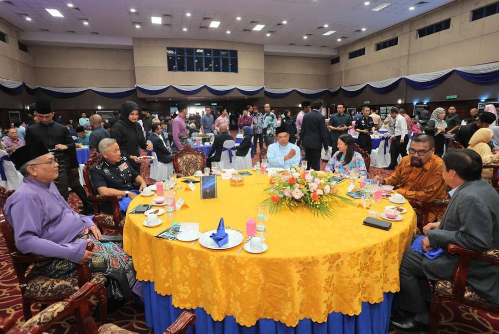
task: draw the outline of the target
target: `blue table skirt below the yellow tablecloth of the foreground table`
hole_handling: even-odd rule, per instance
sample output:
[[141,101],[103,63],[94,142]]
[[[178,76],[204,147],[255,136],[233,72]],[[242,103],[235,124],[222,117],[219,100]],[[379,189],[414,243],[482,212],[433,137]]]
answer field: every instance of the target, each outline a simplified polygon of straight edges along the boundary
[[[146,312],[146,326],[154,327],[155,334],[163,333],[185,311],[172,306],[171,296],[161,296],[154,291],[154,282],[142,282]],[[384,293],[379,304],[362,303],[358,316],[345,316],[333,312],[327,322],[314,323],[310,319],[301,320],[296,327],[271,319],[260,319],[252,327],[236,323],[228,316],[223,321],[214,321],[204,309],[189,310],[196,314],[196,324],[188,334],[386,334],[390,325],[390,311],[394,294]]]

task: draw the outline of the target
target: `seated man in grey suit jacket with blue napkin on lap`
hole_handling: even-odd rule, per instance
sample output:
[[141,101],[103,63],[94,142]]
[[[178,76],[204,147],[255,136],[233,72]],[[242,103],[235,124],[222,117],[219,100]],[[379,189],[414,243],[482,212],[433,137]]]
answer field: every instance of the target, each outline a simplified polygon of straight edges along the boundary
[[[452,280],[458,255],[447,252],[449,244],[485,251],[499,248],[499,195],[482,179],[482,158],[469,149],[447,151],[442,175],[452,187],[451,201],[440,222],[423,228],[421,248],[439,247],[444,252],[430,260],[418,252],[405,252],[400,265],[399,307],[411,314],[392,317],[392,328],[401,333],[428,331],[430,316],[425,298],[431,296],[428,279]],[[466,283],[488,301],[499,304],[499,270],[486,262],[471,260]]]

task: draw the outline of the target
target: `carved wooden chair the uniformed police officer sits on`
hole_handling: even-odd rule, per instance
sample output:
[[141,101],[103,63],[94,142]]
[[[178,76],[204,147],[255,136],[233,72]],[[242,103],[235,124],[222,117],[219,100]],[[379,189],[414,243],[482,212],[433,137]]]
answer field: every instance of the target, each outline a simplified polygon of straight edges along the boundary
[[108,228],[111,230],[118,230],[123,233],[123,225],[125,224],[125,220],[121,215],[119,201],[121,200],[121,196],[101,196],[99,195],[92,186],[92,180],[90,179],[90,167],[95,165],[102,156],[93,152],[88,158],[85,166],[83,167],[83,179],[85,180],[85,187],[87,188],[88,198],[92,201],[94,206],[94,212],[99,213],[99,203],[100,202],[111,202],[113,208],[113,214],[100,213],[97,214],[93,221],[100,228]]

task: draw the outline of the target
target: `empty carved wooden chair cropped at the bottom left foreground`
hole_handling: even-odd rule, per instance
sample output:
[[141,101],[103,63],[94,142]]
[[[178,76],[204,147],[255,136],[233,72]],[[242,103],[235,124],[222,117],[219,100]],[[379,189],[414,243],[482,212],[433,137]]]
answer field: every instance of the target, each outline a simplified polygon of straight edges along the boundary
[[[90,315],[88,300],[98,290],[94,283],[86,283],[75,294],[65,300],[52,304],[20,327],[16,327],[12,317],[0,320],[0,330],[8,331],[9,334],[41,334],[48,332],[50,327],[64,317],[74,315],[78,333],[81,334],[134,334],[114,324],[104,324],[97,328],[95,321]],[[180,317],[166,329],[164,334],[185,334],[189,326],[196,322],[196,315],[185,311]],[[3,324],[3,326],[2,326]]]

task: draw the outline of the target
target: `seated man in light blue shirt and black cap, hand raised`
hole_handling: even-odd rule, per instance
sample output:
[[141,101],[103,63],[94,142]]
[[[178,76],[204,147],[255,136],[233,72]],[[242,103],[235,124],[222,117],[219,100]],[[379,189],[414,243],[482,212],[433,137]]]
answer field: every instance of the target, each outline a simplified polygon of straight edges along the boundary
[[270,144],[267,149],[267,167],[289,169],[300,164],[300,148],[289,143],[289,134],[285,126],[275,128],[277,143]]

